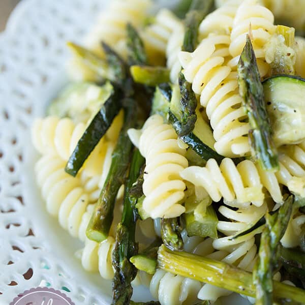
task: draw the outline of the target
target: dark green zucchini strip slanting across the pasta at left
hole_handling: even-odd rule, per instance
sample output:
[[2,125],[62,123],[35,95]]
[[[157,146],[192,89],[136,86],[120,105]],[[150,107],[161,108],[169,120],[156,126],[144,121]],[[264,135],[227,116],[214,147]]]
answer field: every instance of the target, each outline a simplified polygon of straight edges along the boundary
[[114,90],[79,139],[65,167],[68,174],[76,176],[85,160],[105,135],[121,107],[120,93]]

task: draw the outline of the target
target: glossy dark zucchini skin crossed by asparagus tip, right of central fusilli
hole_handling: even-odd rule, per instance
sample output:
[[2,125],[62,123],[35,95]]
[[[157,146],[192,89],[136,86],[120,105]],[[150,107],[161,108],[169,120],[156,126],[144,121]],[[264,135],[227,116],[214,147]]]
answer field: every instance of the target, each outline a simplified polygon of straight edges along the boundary
[[[180,133],[180,130],[182,128],[182,125],[180,121],[176,118],[176,116],[169,111],[169,122],[172,124],[175,132],[177,134]],[[195,152],[197,155],[199,155],[202,159],[208,160],[208,159],[215,159],[217,163],[221,163],[221,161],[224,159],[223,156],[219,155],[216,153],[215,150],[210,148],[209,146],[205,145],[197,136],[195,136],[192,132],[189,134],[186,134],[184,136],[181,136],[180,139],[188,144]]]

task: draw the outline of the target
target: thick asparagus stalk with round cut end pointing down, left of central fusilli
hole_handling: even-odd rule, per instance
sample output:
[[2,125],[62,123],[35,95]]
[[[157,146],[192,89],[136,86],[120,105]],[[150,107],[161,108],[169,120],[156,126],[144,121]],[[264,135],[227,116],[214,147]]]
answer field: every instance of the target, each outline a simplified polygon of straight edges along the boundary
[[113,220],[114,201],[118,189],[125,182],[126,171],[130,161],[132,143],[127,131],[136,125],[136,104],[133,99],[126,99],[124,106],[124,125],[112,154],[109,173],[86,230],[87,237],[97,242],[103,241],[108,236]]

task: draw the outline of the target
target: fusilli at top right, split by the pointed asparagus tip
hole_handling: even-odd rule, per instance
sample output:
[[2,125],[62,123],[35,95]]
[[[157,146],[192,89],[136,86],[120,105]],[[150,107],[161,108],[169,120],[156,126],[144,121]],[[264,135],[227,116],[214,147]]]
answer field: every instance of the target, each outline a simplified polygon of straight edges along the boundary
[[257,65],[261,77],[269,71],[269,65],[265,62],[264,46],[271,35],[276,32],[273,14],[265,7],[258,4],[257,0],[244,0],[236,11],[231,32],[231,44],[229,47],[233,59],[229,66],[236,69],[239,56],[245,47],[246,35],[251,25],[252,44],[257,58]]

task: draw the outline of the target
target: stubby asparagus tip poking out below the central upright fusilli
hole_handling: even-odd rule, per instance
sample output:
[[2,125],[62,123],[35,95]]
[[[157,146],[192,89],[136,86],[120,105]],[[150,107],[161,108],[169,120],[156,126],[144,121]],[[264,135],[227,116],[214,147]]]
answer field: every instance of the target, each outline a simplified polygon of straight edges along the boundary
[[172,249],[180,251],[183,249],[183,240],[181,237],[181,227],[179,218],[162,218],[161,236],[165,245]]

